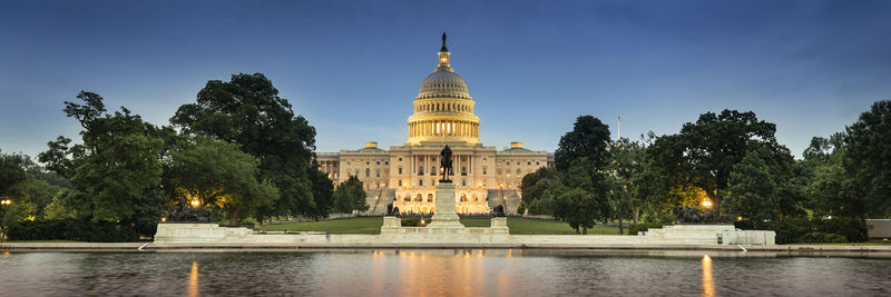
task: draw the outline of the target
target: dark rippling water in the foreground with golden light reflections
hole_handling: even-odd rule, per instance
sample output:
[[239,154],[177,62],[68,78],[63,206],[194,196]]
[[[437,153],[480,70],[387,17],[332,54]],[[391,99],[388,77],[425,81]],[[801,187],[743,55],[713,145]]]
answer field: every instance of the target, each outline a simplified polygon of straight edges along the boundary
[[891,259],[706,254],[7,253],[0,295],[891,295]]

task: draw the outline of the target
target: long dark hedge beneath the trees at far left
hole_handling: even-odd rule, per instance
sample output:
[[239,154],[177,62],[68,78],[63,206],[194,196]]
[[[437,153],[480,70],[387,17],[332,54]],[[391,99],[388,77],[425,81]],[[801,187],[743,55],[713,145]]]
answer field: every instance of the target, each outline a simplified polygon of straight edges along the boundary
[[126,242],[139,240],[131,226],[88,219],[18,221],[9,225],[11,240],[76,240],[90,242]]

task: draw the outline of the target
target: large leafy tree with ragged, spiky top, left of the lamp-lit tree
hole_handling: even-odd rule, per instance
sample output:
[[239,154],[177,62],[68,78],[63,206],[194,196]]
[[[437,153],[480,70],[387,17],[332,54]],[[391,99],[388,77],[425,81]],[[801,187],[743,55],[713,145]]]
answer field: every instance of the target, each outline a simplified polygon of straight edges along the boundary
[[85,128],[80,131],[84,143],[69,147],[70,139],[60,137],[39,156],[51,170],[69,178],[72,187],[57,196],[61,197],[58,204],[53,198],[53,211],[60,205],[74,205],[77,216],[130,224],[141,234],[154,234],[167,201],[160,190],[158,129],[123,107],[106,113],[96,93],[84,91],[77,97],[84,105],[66,101],[65,112]]

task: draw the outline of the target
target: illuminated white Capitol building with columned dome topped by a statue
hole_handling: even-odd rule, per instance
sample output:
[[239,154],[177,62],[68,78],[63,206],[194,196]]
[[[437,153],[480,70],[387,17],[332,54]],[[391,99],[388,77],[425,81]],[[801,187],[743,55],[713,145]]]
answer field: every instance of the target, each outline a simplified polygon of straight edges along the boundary
[[435,71],[429,75],[412,102],[409,135],[402,146],[390,150],[365,142],[364,148],[320,152],[320,170],[335,185],[350,176],[361,180],[368,194],[370,215],[383,215],[386,205],[403,214],[435,211],[435,188],[441,178],[440,151],[452,150],[452,182],[456,185],[456,212],[489,214],[503,205],[515,214],[520,202],[522,177],[554,164],[554,155],[532,151],[522,142],[498,150],[483,146],[479,138],[480,118],[467,82],[450,65],[446,34]]

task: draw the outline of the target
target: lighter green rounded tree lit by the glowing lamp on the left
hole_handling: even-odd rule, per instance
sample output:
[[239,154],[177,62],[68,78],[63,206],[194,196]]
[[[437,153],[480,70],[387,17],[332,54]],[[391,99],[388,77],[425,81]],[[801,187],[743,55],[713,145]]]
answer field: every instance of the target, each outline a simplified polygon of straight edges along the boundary
[[234,226],[278,198],[272,184],[258,179],[257,164],[235,143],[198,137],[193,146],[172,152],[168,187],[185,197],[182,202],[218,208]]

